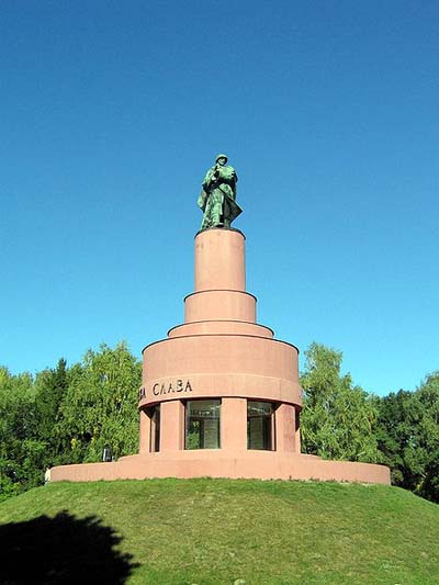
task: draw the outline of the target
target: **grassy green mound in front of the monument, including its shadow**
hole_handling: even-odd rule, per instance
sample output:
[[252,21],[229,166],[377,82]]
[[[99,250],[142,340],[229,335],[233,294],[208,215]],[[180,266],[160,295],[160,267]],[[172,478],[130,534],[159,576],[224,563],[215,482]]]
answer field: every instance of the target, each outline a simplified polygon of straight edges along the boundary
[[2,584],[439,583],[439,506],[379,485],[58,483],[0,505],[0,544]]

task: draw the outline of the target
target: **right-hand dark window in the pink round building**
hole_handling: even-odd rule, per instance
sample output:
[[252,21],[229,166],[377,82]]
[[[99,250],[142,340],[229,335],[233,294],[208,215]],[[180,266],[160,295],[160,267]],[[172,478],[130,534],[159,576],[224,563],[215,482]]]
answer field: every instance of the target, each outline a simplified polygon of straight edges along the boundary
[[271,402],[247,401],[247,449],[274,449],[274,406]]

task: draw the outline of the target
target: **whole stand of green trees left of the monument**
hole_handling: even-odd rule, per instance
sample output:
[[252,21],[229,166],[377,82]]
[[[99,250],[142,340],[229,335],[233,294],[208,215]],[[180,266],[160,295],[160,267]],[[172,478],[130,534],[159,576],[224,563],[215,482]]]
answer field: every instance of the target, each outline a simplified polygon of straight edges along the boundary
[[125,344],[36,374],[0,368],[0,499],[41,485],[47,468],[137,451],[140,363]]

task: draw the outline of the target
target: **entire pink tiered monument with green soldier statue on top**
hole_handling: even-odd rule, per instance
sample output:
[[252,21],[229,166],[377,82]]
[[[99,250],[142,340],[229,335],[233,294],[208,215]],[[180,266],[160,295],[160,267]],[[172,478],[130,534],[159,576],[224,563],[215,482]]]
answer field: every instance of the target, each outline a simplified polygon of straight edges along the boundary
[[218,155],[202,183],[194,292],[184,299],[184,322],[143,350],[139,453],[53,468],[50,481],[211,476],[390,483],[383,465],[301,454],[299,350],[257,323],[256,297],[246,290],[246,238],[232,227],[241,213],[237,180],[226,155]]

